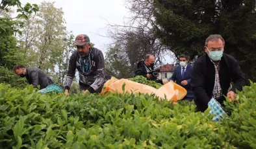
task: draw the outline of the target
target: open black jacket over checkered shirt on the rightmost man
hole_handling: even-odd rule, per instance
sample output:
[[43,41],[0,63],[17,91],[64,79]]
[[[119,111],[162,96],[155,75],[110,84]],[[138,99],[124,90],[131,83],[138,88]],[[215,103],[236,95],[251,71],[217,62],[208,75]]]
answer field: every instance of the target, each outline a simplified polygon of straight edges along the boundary
[[[242,90],[242,87],[246,85],[246,78],[238,62],[229,54],[223,54],[220,60],[220,86],[222,88],[222,95],[227,96],[227,90],[229,89],[231,81],[234,82],[231,91],[236,93]],[[212,97],[212,90],[214,88],[215,81],[215,67],[211,62],[209,56],[204,54],[199,57],[194,63],[194,67],[191,72],[191,86],[194,93],[194,101],[200,111],[205,111],[208,108],[208,102]],[[218,99],[220,104],[223,104],[225,97]]]

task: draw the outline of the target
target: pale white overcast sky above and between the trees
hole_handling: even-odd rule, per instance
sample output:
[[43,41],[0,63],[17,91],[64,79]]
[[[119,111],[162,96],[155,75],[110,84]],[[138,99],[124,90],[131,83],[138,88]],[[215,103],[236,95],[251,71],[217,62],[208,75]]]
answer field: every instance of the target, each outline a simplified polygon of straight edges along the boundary
[[[21,0],[25,3],[38,4],[44,0]],[[45,0],[55,1],[55,7],[62,8],[67,30],[77,34],[87,34],[90,41],[104,55],[112,40],[107,36],[107,21],[111,24],[123,25],[125,17],[129,17],[129,10],[125,8],[125,0]],[[101,36],[100,36],[101,35]],[[170,56],[164,56],[165,63],[172,63]]]

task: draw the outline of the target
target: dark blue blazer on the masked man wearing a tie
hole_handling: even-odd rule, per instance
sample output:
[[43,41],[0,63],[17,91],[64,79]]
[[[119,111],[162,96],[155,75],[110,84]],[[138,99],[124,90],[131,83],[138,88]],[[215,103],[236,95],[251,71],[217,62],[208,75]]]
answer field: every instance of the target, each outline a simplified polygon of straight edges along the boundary
[[[170,78],[170,80],[173,80],[173,82],[176,81],[176,84],[179,84],[179,86],[182,86],[186,89],[186,97],[190,97],[190,98],[194,98],[194,94],[192,92],[192,87],[190,86],[190,82],[191,82],[191,76],[190,73],[192,71],[193,66],[188,63],[186,66],[186,71],[184,74],[184,78],[182,78],[181,76],[181,65],[175,67],[174,72]],[[181,82],[183,80],[186,80],[188,82],[188,84],[186,86],[181,85]]]

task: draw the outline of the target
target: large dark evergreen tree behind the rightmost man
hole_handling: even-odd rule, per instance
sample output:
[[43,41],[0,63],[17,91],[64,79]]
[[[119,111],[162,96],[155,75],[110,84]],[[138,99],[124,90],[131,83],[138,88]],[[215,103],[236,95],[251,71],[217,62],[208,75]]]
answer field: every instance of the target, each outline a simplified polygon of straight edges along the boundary
[[176,54],[201,56],[205,39],[221,34],[225,52],[240,62],[247,78],[256,80],[255,1],[155,0],[156,36]]

